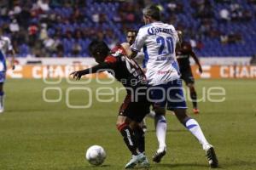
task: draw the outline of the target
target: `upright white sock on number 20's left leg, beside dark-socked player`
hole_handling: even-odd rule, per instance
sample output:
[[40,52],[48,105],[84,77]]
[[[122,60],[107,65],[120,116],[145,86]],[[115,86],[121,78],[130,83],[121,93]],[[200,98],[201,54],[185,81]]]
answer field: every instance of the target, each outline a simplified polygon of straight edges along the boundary
[[159,147],[166,147],[166,117],[165,116],[154,116],[154,125],[156,131],[156,137],[159,142]]

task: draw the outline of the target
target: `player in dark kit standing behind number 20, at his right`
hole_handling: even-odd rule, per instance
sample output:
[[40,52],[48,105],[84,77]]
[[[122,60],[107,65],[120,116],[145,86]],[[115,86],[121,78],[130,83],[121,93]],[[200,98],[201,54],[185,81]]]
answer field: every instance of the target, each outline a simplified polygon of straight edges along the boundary
[[[179,35],[181,37],[181,32],[179,31]],[[182,42],[181,46],[176,49],[177,62],[179,65],[179,70],[181,73],[181,79],[186,83],[189,87],[190,98],[192,99],[193,104],[193,112],[195,114],[199,113],[199,109],[197,107],[197,96],[195,92],[195,78],[193,77],[189,58],[192,57],[195,60],[196,65],[198,65],[199,72],[202,73],[201,64],[199,59],[196,57],[194,51],[189,42]]]

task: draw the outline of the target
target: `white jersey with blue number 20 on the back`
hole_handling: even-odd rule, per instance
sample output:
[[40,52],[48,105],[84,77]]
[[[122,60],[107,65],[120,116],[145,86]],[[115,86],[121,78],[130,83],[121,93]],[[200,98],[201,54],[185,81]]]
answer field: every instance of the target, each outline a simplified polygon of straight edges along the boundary
[[139,29],[131,49],[138,52],[143,48],[149,85],[164,84],[180,77],[175,56],[177,42],[177,31],[172,25],[154,22]]

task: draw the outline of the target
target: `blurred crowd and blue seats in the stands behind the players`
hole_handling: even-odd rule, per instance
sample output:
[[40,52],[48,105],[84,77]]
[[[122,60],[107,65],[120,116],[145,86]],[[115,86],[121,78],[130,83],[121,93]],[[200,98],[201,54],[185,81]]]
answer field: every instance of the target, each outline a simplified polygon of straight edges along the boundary
[[199,56],[256,54],[256,0],[0,0],[0,26],[20,57],[88,57],[91,39],[112,47],[143,26],[149,3]]

